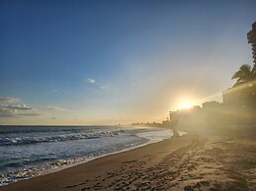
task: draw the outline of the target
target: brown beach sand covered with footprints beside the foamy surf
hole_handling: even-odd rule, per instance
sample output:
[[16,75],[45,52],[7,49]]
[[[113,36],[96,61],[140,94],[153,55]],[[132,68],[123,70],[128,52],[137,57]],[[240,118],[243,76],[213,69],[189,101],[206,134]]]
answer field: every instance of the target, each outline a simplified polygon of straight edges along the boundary
[[256,190],[256,139],[184,136],[0,187],[50,190]]

